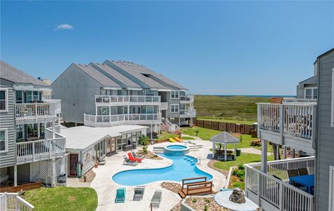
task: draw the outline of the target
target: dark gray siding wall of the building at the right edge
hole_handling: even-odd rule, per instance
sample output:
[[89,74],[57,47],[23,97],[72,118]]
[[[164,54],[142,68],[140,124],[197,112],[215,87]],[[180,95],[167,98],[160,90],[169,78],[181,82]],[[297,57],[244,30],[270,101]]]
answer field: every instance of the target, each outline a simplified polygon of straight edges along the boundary
[[319,58],[315,65],[319,68],[315,210],[328,210],[329,166],[334,166],[334,128],[331,127],[331,78],[334,52]]

